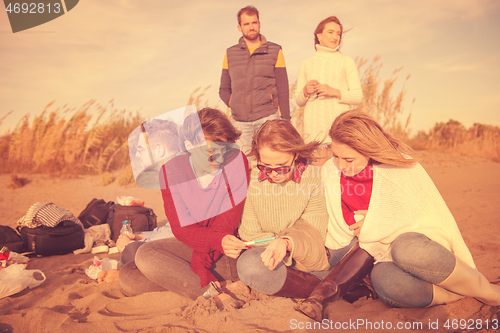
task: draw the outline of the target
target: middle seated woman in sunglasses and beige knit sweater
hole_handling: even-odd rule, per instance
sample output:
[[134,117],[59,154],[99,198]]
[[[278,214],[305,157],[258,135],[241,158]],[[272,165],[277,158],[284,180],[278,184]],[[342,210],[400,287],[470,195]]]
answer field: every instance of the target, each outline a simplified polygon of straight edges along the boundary
[[[247,286],[268,295],[307,297],[329,268],[324,247],[328,213],[319,168],[310,165],[320,142],[304,140],[286,120],[267,121],[254,135],[252,170],[238,229],[256,241],[237,262]],[[260,243],[260,240],[274,240]]]

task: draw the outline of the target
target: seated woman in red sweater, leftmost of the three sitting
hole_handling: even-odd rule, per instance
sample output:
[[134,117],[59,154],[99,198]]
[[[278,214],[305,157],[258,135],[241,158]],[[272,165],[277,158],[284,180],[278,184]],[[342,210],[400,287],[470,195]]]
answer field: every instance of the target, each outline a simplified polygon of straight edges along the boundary
[[160,171],[165,214],[175,238],[138,248],[135,260],[120,270],[125,291],[167,289],[196,299],[221,293],[218,281],[238,280],[235,258],[245,244],[234,235],[248,187],[248,161],[234,145],[239,136],[219,110],[205,108],[186,117],[180,141],[187,154]]

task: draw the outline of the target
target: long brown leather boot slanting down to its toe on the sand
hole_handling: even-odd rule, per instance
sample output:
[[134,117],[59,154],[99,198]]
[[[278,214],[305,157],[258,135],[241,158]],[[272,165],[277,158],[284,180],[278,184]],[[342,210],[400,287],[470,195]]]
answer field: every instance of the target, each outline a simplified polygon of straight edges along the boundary
[[309,318],[321,321],[325,305],[341,298],[358,285],[370,273],[373,263],[373,257],[356,243],[297,310]]

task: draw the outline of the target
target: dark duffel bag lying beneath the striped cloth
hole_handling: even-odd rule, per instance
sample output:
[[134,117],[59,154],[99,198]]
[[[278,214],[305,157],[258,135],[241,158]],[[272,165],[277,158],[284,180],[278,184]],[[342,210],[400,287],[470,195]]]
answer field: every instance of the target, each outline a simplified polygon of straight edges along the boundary
[[83,228],[69,220],[61,221],[55,227],[23,227],[20,232],[24,249],[42,256],[70,253],[84,245]]

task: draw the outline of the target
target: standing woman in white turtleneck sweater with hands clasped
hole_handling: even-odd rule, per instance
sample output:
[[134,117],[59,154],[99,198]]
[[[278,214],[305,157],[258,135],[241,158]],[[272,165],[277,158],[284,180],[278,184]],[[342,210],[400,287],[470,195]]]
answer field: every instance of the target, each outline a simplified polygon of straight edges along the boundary
[[330,124],[343,111],[361,103],[363,93],[354,60],[339,52],[343,28],[330,16],[314,31],[316,53],[302,61],[295,101],[304,109],[304,139],[329,143]]

